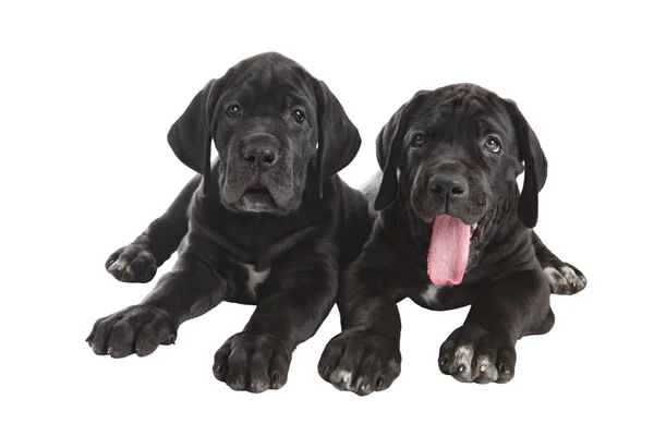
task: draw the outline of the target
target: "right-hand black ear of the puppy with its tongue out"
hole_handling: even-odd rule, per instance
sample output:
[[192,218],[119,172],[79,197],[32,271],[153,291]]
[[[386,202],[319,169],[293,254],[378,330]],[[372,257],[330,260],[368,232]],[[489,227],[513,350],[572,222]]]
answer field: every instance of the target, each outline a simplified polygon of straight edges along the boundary
[[518,202],[518,216],[522,223],[533,229],[538,221],[538,192],[547,179],[547,159],[536,134],[512,100],[506,100],[518,140],[520,160],[524,162],[524,182]]

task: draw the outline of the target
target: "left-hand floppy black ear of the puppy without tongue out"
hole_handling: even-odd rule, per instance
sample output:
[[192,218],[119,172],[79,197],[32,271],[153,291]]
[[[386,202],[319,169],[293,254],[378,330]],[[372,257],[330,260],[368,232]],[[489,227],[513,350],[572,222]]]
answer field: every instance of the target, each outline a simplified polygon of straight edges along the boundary
[[211,121],[222,82],[209,81],[168,131],[168,144],[178,159],[204,174],[205,195],[211,187]]

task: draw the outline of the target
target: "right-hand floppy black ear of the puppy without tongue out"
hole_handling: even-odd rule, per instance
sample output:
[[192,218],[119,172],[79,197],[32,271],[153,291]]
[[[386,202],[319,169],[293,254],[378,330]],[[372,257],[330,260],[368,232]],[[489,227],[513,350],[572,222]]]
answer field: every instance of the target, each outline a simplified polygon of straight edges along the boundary
[[322,196],[322,180],[336,174],[354,159],[361,147],[361,136],[341,104],[324,82],[314,78],[313,90],[318,112],[316,166]]

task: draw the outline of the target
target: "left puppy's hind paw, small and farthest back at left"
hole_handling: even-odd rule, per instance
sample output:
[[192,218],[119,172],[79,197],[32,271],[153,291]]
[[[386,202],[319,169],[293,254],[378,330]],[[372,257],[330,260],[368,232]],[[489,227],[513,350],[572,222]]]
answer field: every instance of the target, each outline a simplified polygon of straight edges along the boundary
[[147,283],[157,274],[157,262],[147,250],[128,245],[113,252],[105,268],[117,280]]

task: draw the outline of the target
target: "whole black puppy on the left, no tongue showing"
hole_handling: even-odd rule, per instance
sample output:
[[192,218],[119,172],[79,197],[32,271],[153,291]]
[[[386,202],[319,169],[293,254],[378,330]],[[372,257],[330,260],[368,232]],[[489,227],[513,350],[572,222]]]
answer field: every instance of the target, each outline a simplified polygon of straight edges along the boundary
[[264,53],[210,81],[168,142],[203,186],[194,178],[107,268],[148,281],[178,246],[179,258],[141,304],[97,320],[87,341],[96,354],[143,356],[221,301],[256,304],[217,351],[214,374],[232,389],[280,388],[292,350],[323,323],[340,268],[370,234],[365,197],[336,175],[356,155],[359,132],[323,82]]

